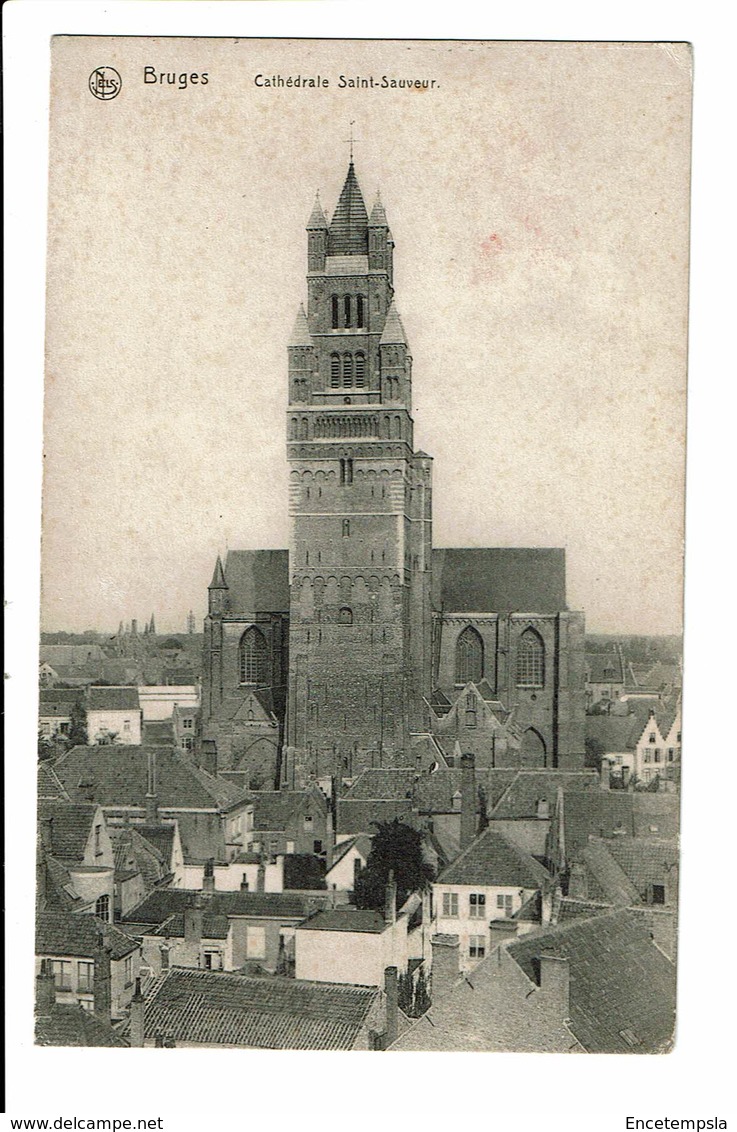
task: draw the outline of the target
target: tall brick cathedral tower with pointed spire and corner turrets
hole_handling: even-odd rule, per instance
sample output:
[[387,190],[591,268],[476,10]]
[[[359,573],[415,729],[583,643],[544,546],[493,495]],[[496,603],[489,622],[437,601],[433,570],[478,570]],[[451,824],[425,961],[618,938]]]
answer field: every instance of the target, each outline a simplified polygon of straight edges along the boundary
[[289,345],[289,692],[283,780],[410,764],[431,691],[431,460],[414,452],[394,242],[351,162],[307,225]]

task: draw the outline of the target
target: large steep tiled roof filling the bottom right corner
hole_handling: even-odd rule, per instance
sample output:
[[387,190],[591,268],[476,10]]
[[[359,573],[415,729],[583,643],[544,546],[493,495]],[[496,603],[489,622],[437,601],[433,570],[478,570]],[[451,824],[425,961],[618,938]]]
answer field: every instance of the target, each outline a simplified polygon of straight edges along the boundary
[[[675,967],[636,912],[574,919],[525,936],[508,954],[539,985],[540,955],[569,964],[569,1027],[589,1053],[662,1053],[672,1041]],[[624,1035],[634,1036],[634,1044]]]

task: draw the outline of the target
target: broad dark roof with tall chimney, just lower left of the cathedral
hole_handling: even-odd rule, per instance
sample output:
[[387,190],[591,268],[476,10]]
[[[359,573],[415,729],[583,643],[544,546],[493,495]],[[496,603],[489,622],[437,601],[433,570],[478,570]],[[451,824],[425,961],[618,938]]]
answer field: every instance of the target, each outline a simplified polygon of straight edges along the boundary
[[156,795],[163,808],[222,808],[240,797],[231,782],[195,766],[173,747],[72,747],[53,769],[75,801],[144,806],[149,753],[156,760]]

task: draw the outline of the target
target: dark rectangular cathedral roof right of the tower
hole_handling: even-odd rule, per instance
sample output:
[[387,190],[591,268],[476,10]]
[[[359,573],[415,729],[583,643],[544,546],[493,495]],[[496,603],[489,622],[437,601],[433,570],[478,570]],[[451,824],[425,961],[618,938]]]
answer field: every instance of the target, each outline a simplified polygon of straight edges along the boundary
[[565,550],[532,547],[434,550],[432,606],[447,614],[565,610]]

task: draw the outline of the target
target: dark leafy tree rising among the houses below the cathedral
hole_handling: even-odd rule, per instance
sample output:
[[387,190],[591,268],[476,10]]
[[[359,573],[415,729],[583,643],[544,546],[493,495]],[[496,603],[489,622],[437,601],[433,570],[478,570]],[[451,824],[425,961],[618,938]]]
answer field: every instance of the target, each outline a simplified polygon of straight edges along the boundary
[[434,877],[432,867],[422,856],[422,834],[396,817],[393,822],[376,822],[376,833],[366,868],[355,882],[358,908],[384,908],[386,884],[394,873],[397,907],[411,892],[423,892]]

